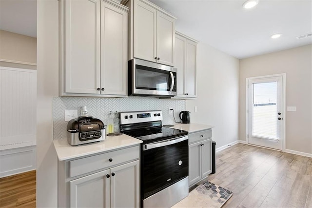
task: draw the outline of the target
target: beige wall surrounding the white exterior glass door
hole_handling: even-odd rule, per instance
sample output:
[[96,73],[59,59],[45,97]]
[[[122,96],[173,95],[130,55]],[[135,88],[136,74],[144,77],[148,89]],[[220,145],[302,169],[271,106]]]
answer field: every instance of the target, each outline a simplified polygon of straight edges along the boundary
[[286,149],[312,153],[312,45],[239,62],[239,139],[245,141],[246,78],[286,73]]

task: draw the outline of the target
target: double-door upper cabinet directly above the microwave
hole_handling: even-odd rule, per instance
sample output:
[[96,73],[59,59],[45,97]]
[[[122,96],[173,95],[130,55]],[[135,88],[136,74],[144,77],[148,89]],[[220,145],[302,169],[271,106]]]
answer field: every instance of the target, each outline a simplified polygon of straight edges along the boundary
[[130,59],[175,65],[176,18],[147,0],[129,0]]

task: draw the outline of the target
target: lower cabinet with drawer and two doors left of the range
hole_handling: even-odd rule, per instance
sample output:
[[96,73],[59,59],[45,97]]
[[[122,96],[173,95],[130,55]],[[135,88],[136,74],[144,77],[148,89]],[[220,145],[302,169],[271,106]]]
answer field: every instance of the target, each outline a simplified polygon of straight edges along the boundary
[[134,146],[59,161],[58,207],[139,207],[138,159],[139,146]]

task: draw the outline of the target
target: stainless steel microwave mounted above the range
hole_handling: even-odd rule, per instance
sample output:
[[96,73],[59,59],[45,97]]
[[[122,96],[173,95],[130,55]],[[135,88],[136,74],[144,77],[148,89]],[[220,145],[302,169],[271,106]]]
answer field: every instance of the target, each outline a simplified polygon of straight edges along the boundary
[[140,59],[129,61],[129,95],[176,96],[176,71],[172,66]]

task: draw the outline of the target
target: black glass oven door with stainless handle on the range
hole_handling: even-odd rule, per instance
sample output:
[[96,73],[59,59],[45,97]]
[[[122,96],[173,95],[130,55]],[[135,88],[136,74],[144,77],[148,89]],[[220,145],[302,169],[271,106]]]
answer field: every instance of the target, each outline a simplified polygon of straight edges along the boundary
[[142,145],[141,197],[147,197],[188,176],[188,136]]

